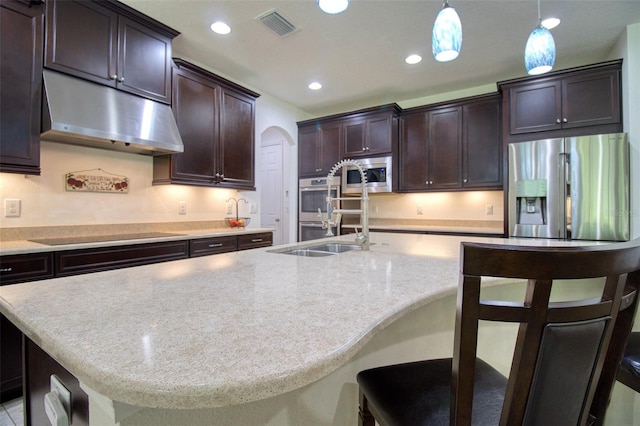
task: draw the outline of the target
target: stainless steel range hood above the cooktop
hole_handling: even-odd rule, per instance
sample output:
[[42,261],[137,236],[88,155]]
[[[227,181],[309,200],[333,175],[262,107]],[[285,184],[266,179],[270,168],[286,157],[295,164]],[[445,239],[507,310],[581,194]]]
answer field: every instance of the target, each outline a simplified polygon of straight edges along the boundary
[[45,70],[42,138],[137,154],[183,152],[168,105]]

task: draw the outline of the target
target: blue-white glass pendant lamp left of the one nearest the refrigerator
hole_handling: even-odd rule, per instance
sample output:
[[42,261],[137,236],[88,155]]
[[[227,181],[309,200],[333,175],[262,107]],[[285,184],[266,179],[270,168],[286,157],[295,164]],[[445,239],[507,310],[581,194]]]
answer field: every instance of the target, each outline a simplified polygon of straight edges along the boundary
[[431,48],[436,61],[452,61],[460,54],[462,47],[462,23],[456,10],[445,0],[442,10],[433,24]]

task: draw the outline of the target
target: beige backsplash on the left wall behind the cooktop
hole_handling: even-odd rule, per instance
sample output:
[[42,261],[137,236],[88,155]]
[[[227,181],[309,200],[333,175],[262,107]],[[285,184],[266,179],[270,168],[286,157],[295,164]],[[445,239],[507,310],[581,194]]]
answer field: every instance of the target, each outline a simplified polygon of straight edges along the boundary
[[[66,173],[95,168],[128,177],[129,192],[65,191]],[[235,190],[219,188],[153,186],[150,156],[46,141],[41,146],[41,169],[40,176],[0,173],[0,200],[18,198],[22,210],[18,218],[6,218],[2,214],[0,226],[216,220],[226,216],[225,200],[238,196]],[[178,214],[179,201],[187,202],[186,215]],[[241,213],[248,213],[248,209],[248,205],[241,203]]]

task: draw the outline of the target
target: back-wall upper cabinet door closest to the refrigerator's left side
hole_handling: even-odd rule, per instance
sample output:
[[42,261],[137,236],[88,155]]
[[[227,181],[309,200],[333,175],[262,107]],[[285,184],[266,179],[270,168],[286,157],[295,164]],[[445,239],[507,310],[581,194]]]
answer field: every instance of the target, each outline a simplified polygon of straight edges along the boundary
[[502,188],[500,98],[462,108],[464,188]]

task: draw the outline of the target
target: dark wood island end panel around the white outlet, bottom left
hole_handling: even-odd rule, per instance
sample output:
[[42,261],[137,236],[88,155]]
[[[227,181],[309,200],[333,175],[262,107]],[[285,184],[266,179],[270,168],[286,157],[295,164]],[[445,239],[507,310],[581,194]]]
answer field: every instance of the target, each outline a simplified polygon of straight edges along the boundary
[[51,391],[52,374],[71,393],[70,424],[89,424],[89,397],[80,388],[78,379],[27,337],[24,338],[24,365],[26,425],[50,424],[44,408],[44,396]]

